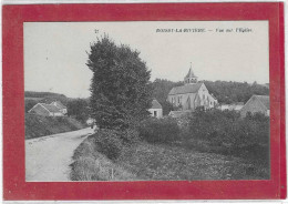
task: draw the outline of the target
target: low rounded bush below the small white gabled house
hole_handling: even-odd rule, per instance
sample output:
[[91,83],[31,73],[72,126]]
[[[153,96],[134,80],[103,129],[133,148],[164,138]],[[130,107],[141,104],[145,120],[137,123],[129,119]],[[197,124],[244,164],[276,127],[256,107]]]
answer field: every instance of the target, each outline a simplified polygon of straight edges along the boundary
[[172,118],[151,118],[141,123],[140,137],[147,142],[171,143],[179,139],[179,128]]

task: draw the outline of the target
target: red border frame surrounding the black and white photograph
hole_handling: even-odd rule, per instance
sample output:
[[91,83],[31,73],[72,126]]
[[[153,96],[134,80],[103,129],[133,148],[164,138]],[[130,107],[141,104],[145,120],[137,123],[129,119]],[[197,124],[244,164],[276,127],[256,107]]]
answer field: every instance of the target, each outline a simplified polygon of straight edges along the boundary
[[[4,200],[264,200],[286,197],[284,3],[3,6]],[[23,22],[268,20],[271,177],[267,181],[25,182]]]

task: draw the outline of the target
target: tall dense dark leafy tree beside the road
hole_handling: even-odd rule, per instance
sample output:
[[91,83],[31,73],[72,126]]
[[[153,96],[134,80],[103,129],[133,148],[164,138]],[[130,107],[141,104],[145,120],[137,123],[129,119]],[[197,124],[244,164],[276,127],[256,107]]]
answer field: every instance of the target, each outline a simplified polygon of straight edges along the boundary
[[91,109],[100,129],[126,130],[150,114],[151,71],[138,55],[107,35],[91,44],[86,63],[93,72]]

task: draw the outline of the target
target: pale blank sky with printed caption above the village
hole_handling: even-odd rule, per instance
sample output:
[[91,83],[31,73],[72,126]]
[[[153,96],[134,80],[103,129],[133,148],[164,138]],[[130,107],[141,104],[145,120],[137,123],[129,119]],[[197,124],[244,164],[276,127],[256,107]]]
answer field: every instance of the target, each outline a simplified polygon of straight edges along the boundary
[[268,21],[25,22],[24,90],[89,96],[86,52],[104,33],[138,50],[152,81],[192,65],[198,80],[269,83]]

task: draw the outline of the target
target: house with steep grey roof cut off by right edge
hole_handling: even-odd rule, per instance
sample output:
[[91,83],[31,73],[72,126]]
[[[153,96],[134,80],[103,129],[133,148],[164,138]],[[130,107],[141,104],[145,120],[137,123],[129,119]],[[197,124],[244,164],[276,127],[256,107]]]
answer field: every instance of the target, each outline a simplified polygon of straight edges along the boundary
[[247,103],[241,108],[240,115],[244,118],[250,113],[263,113],[267,116],[270,115],[270,100],[269,95],[253,95]]

